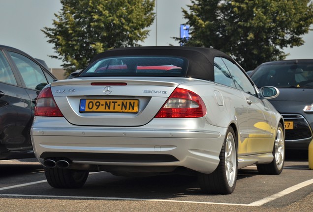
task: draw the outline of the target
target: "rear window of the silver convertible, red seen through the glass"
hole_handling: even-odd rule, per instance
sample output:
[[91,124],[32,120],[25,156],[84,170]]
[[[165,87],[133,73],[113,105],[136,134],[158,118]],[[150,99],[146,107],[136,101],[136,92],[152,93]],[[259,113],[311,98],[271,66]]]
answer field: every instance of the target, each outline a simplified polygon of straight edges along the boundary
[[102,58],[91,64],[79,77],[157,76],[185,77],[188,60],[175,56],[123,56]]

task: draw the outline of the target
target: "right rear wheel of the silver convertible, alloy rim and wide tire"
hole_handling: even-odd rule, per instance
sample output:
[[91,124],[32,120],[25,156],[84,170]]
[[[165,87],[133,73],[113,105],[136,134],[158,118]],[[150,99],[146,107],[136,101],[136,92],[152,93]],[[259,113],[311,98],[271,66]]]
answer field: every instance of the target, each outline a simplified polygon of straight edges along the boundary
[[235,132],[230,127],[219,154],[219,165],[216,170],[211,174],[198,174],[198,182],[203,192],[231,194],[234,191],[238,172],[236,143]]

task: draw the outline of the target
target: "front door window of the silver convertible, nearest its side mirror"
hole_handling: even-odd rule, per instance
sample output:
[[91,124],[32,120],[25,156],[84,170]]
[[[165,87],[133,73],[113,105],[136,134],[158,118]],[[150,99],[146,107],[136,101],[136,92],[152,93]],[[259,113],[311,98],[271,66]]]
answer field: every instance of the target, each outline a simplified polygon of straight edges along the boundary
[[255,90],[253,85],[247,76],[243,73],[243,71],[233,62],[228,59],[222,58],[224,63],[226,64],[237,89],[255,95]]

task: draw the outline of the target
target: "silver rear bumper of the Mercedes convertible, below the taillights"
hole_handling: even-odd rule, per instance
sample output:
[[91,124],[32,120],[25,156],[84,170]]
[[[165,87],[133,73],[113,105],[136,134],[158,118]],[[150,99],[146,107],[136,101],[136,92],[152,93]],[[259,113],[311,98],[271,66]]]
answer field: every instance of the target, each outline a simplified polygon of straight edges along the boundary
[[159,167],[182,166],[207,174],[218,166],[227,129],[215,126],[211,126],[212,131],[147,128],[152,125],[57,128],[37,126],[34,122],[31,140],[35,156],[42,164],[45,159],[66,158],[76,167],[81,165],[80,169],[88,169],[89,164],[108,167],[108,170],[112,166],[149,167],[147,170],[153,172],[153,167],[159,171]]

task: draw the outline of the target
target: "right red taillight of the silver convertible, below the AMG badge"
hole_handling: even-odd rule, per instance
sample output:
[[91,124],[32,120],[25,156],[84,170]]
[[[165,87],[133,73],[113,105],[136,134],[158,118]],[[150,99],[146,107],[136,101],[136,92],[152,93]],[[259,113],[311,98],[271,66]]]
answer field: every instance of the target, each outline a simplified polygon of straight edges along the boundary
[[176,88],[155,118],[198,118],[206,112],[207,108],[199,95]]

